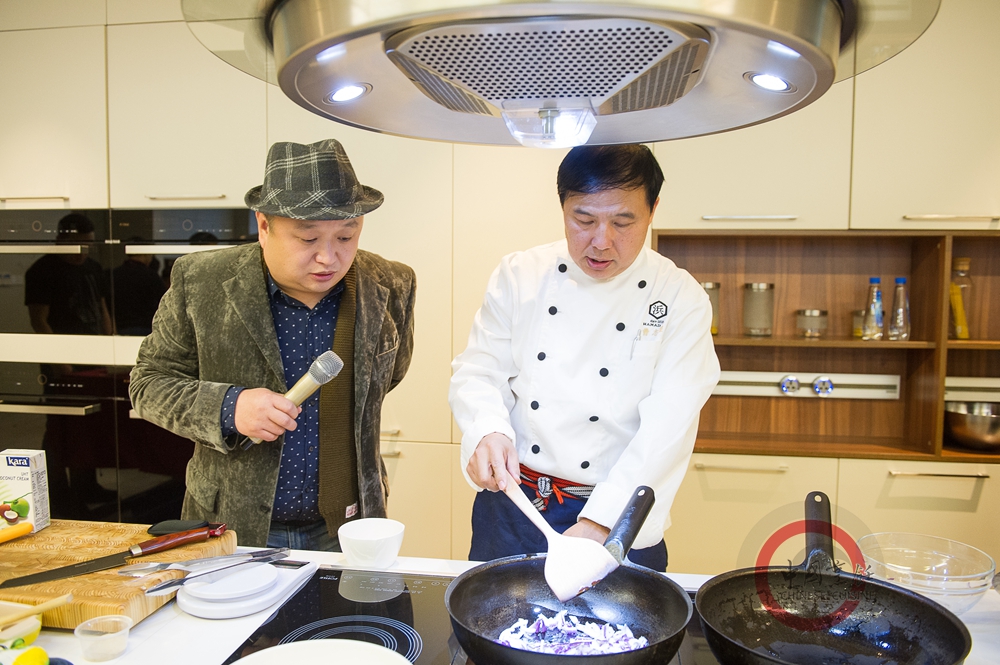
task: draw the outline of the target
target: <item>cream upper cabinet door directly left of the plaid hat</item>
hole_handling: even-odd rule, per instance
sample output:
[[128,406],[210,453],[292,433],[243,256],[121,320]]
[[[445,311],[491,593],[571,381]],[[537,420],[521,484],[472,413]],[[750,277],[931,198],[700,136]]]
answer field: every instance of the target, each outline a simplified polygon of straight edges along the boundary
[[183,22],[108,27],[113,208],[239,208],[264,174],[266,84]]

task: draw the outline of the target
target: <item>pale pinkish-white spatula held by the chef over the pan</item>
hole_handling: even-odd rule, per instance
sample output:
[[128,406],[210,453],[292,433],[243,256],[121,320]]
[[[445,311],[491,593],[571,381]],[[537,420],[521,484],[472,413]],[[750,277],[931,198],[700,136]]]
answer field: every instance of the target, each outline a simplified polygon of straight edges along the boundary
[[[505,471],[505,473],[507,473]],[[504,494],[510,497],[525,517],[538,527],[548,541],[545,555],[545,582],[560,602],[580,595],[618,567],[619,562],[596,540],[574,538],[557,533],[514,479],[507,476]]]

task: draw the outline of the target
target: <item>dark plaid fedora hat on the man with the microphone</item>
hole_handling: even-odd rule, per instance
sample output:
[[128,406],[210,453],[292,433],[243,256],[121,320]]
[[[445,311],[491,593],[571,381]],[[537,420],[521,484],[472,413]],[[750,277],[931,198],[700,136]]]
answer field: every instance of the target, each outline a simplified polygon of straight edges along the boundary
[[383,200],[382,192],[358,182],[336,139],[275,143],[267,153],[264,184],[244,197],[251,210],[292,219],[360,217]]

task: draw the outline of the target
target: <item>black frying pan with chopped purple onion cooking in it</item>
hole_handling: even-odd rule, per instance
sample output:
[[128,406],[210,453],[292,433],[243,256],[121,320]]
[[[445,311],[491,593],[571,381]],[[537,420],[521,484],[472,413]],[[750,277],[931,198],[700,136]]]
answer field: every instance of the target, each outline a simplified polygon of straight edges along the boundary
[[[652,505],[652,492],[649,505]],[[636,496],[633,495],[633,501]],[[642,526],[645,511],[630,504],[605,546],[624,557]],[[448,586],[444,602],[455,637],[470,660],[489,665],[640,665],[666,663],[680,647],[693,606],[687,593],[666,576],[625,560],[586,593],[561,603],[545,582],[545,555],[494,559],[470,568]],[[627,624],[649,644],[634,651],[600,656],[535,653],[494,642],[518,619],[537,612],[567,610],[581,621]]]

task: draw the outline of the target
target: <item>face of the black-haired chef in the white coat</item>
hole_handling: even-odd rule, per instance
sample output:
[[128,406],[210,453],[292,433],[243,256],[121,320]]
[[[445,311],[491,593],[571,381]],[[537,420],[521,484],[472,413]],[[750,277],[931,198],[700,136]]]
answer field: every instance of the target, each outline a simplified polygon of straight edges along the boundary
[[573,261],[595,279],[609,279],[628,268],[646,243],[659,202],[650,209],[643,188],[567,194],[563,219]]

